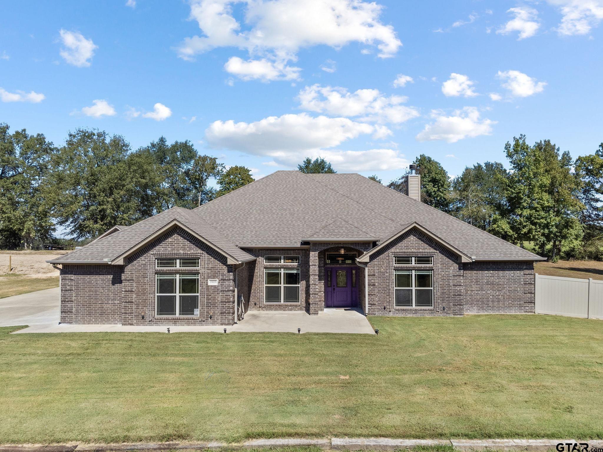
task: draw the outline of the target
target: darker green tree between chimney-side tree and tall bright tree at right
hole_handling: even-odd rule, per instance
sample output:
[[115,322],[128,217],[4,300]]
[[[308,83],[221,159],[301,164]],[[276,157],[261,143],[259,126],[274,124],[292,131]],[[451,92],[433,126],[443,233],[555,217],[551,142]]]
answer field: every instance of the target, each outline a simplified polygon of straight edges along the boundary
[[502,163],[477,163],[452,181],[452,215],[481,229],[490,227],[493,216],[505,210],[505,179]]

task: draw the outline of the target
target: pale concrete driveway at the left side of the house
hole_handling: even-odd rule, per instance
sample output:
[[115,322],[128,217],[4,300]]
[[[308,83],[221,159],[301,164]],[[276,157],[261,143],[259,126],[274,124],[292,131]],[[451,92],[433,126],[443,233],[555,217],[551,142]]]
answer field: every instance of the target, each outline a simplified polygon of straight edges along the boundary
[[0,327],[13,325],[58,325],[58,287],[0,298]]

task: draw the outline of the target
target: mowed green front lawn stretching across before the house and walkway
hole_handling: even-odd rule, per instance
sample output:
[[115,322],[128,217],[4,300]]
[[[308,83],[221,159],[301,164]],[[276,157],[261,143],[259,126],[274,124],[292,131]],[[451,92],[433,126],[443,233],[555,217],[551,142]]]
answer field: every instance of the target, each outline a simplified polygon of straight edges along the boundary
[[603,322],[370,321],[378,336],[0,328],[0,444],[603,438]]

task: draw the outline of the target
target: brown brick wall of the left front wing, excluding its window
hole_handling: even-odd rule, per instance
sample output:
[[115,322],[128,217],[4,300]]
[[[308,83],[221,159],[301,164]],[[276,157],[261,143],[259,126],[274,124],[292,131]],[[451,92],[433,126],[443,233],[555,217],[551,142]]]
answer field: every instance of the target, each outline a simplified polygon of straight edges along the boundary
[[[200,268],[177,269],[199,274],[199,316],[155,316],[157,257],[195,257]],[[208,286],[217,279],[218,286]],[[232,325],[235,285],[226,258],[180,228],[158,237],[127,259],[125,266],[65,265],[61,271],[61,321],[74,324]],[[142,318],[144,316],[144,319]],[[211,316],[211,318],[210,318]]]

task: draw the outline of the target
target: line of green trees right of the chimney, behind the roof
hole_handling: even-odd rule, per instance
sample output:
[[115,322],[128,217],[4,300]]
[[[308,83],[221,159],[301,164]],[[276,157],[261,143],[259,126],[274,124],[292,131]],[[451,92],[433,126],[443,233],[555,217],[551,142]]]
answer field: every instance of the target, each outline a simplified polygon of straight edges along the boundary
[[[529,145],[525,135],[504,149],[509,168],[476,163],[454,178],[419,155],[421,200],[551,260],[603,260],[603,143],[575,160],[551,140]],[[405,192],[405,183],[388,186]]]

